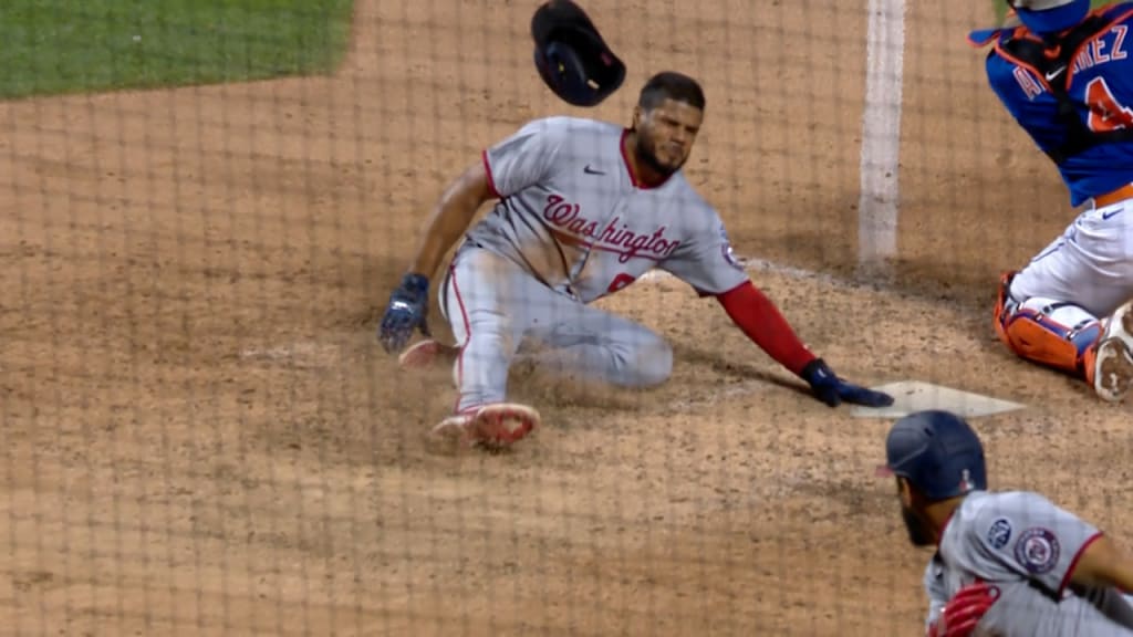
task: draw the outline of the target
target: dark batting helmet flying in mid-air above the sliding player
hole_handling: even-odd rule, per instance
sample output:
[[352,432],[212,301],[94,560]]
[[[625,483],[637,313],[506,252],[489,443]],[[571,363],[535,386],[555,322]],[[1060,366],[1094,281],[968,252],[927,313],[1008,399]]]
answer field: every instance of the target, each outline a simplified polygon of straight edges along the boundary
[[595,107],[625,79],[625,65],[571,0],[543,3],[531,18],[531,37],[539,77],[568,103]]

